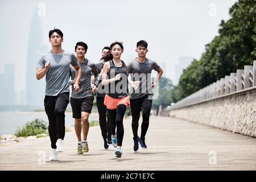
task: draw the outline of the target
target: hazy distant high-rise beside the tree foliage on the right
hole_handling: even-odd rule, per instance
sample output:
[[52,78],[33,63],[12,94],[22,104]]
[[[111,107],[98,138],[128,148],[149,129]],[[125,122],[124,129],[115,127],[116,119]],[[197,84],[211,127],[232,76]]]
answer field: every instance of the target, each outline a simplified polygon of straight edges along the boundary
[[187,68],[192,61],[193,61],[193,57],[190,57],[190,56],[179,57],[179,63],[175,65],[174,85],[179,84],[180,76],[183,73],[183,69]]

